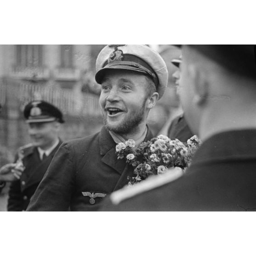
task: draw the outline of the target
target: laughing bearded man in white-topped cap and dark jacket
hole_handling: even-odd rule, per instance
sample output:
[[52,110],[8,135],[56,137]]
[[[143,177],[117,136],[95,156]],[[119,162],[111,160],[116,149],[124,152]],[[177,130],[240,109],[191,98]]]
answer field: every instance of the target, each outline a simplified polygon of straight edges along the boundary
[[167,67],[146,45],[107,45],[96,60],[104,126],[61,145],[28,211],[96,211],[102,199],[128,184],[133,167],[117,159],[116,145],[152,138],[146,125],[167,86]]

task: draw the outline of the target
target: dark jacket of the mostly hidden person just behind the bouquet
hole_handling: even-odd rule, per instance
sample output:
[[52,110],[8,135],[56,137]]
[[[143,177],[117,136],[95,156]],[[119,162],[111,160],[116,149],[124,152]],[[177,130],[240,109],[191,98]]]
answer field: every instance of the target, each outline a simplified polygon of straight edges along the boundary
[[186,142],[193,135],[183,114],[173,119],[167,134],[170,139],[179,139],[182,142]]

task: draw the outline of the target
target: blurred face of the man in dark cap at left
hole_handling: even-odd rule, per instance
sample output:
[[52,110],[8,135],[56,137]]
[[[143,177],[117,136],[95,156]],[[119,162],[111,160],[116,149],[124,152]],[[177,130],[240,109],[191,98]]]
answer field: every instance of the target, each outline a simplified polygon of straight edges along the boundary
[[34,122],[28,124],[28,134],[33,144],[47,149],[58,138],[59,125],[57,122]]

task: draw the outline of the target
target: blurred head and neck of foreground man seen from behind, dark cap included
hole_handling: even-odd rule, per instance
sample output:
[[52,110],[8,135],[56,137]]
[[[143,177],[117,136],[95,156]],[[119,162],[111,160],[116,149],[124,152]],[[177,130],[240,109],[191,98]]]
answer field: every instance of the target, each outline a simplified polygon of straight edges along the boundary
[[182,51],[182,103],[201,139],[254,128],[255,45],[184,45]]

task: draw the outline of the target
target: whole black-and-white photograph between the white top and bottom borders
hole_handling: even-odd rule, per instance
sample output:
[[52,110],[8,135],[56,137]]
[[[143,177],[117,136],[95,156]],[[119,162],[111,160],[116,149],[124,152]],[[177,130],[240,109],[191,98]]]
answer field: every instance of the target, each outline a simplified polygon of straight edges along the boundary
[[1,211],[255,211],[255,45],[1,45]]

